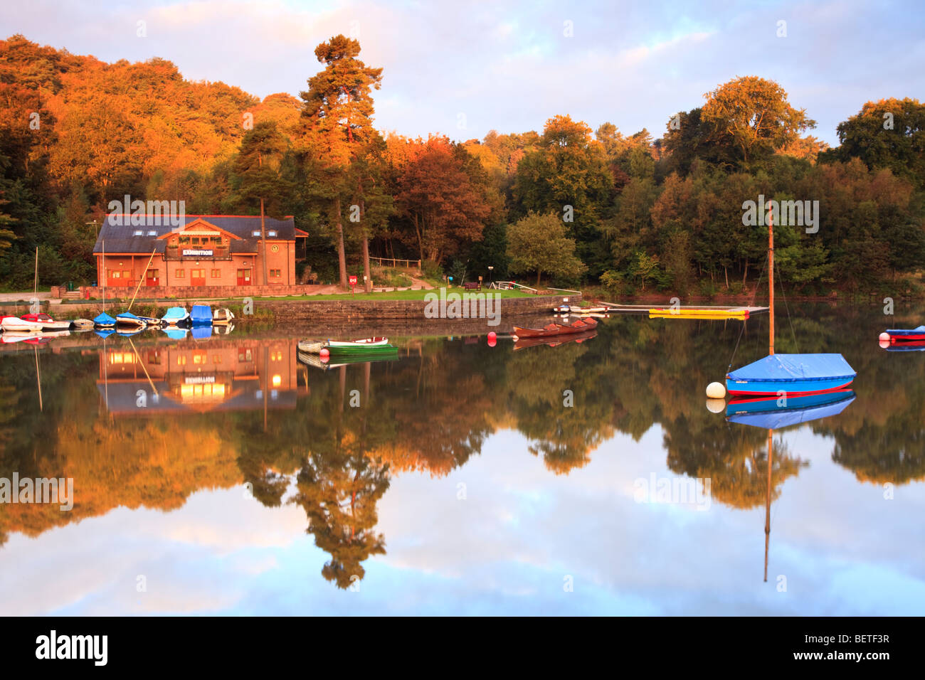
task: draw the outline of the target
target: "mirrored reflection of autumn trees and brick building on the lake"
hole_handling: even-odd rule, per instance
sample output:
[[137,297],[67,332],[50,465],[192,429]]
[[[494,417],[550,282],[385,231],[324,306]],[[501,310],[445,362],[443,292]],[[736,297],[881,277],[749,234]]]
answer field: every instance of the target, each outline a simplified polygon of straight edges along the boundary
[[[921,480],[921,354],[871,348],[861,313],[824,314],[798,318],[798,349],[845,353],[858,371],[855,403],[772,427],[808,428],[860,482]],[[740,354],[761,355],[761,321],[749,322]],[[71,476],[76,502],[70,513],[0,505],[0,542],[120,506],[175,510],[197,490],[243,484],[262,506],[304,513],[327,552],[322,575],[347,588],[388,550],[378,506],[396,477],[448,476],[503,430],[528,440],[512,455],[564,478],[605,442],[638,442],[657,427],[673,474],[709,478],[727,507],[765,507],[810,456],[781,437],[769,455],[768,423],[741,427],[735,411],[727,420],[704,408],[704,386],[728,364],[717,348],[732,347],[739,328],[611,318],[581,342],[515,351],[511,340],[393,339],[398,360],[337,366],[300,362],[297,338],[281,333],[11,345],[0,356],[0,476]]]

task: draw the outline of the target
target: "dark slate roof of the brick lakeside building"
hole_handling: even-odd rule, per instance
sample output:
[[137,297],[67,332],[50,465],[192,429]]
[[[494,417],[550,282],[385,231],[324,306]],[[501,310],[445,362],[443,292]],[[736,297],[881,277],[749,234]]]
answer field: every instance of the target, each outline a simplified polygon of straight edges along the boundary
[[[143,225],[131,224],[132,220],[137,222],[138,217],[140,216],[117,215],[116,213],[106,216],[100,227],[99,236],[96,237],[96,243],[93,245],[93,253],[103,252],[103,241],[106,243],[106,253],[150,254],[155,249],[157,253],[164,253],[166,239],[158,239],[158,237],[170,231],[183,229],[197,219],[203,219],[218,229],[224,229],[239,236],[240,239],[230,240],[231,253],[256,253],[257,243],[260,242],[259,236],[253,236],[253,231],[260,230],[260,216],[186,215],[180,227],[172,226],[169,217],[156,215],[141,216],[144,219]],[[120,220],[122,224],[119,224]],[[291,216],[284,219],[265,217],[265,223],[266,241],[295,241],[295,221]],[[138,230],[142,231],[141,236],[135,235]],[[277,235],[270,236],[271,230],[276,231]]]

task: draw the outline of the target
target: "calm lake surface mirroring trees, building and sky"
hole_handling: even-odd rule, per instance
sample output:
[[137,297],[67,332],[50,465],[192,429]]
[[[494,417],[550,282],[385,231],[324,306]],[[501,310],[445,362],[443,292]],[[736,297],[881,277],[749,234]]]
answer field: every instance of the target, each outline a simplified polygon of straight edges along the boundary
[[334,367],[311,328],[8,345],[0,477],[73,508],[0,504],[0,614],[921,614],[925,352],[877,336],[925,309],[785,311],[778,352],[857,378],[773,431],[767,581],[768,429],[704,398],[767,315]]

